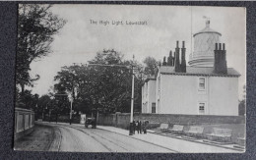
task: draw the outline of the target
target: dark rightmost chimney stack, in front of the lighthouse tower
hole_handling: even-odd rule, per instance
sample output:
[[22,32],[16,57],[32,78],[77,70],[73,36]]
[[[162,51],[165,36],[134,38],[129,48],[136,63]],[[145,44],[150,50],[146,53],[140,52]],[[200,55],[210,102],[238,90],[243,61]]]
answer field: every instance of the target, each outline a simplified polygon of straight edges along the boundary
[[223,43],[223,49],[222,49],[222,43],[215,44],[215,73],[216,74],[227,74],[227,67],[226,67],[226,59],[225,59],[225,47]]

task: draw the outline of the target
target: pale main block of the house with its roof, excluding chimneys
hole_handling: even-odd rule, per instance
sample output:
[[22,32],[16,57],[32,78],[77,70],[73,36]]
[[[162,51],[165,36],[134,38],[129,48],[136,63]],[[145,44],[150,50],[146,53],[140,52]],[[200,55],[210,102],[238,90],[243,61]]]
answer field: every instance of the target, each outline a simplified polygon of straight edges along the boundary
[[176,73],[161,66],[157,77],[157,113],[185,115],[238,115],[239,74],[215,74],[213,68],[187,67]]

